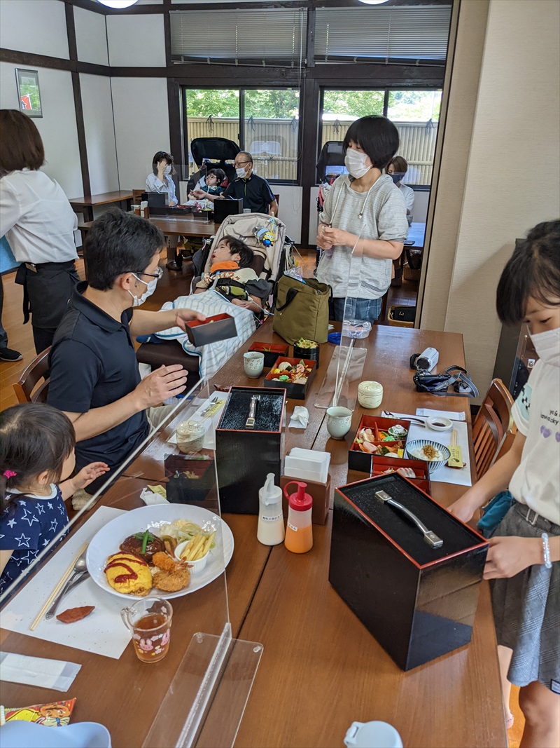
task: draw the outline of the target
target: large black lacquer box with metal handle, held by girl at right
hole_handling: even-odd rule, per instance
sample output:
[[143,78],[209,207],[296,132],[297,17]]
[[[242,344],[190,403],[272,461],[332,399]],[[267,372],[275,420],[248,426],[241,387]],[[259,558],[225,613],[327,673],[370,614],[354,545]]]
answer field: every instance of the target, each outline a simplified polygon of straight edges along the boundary
[[[376,498],[385,491],[443,541]],[[335,491],[329,581],[403,670],[470,642],[488,543],[392,473]]]

